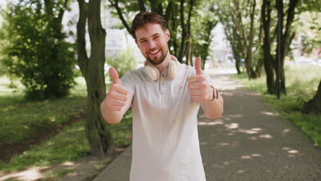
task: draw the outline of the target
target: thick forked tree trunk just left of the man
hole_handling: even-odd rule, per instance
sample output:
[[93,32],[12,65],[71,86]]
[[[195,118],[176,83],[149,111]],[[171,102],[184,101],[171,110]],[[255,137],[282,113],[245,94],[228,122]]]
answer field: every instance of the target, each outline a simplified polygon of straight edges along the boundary
[[[100,19],[99,0],[78,0],[80,17],[77,24],[78,65],[87,86],[86,135],[91,154],[104,155],[112,145],[112,137],[102,118],[100,104],[106,97],[104,62],[106,31]],[[86,53],[86,21],[91,41],[91,56]]]

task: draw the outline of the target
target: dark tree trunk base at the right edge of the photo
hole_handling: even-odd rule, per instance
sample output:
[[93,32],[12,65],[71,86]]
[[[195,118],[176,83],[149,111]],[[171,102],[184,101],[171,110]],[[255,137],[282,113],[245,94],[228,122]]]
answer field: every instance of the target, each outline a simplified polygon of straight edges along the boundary
[[303,106],[303,112],[321,114],[321,81],[319,83],[316,95],[313,97],[313,99],[305,103],[305,106]]

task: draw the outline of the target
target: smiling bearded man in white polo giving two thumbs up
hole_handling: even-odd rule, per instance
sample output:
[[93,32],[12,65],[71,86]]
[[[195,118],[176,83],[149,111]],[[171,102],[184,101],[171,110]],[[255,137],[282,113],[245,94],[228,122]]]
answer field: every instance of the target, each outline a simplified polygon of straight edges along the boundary
[[119,123],[132,106],[131,181],[204,181],[197,114],[223,113],[223,98],[201,69],[180,64],[169,54],[169,29],[155,13],[140,12],[132,22],[132,36],[146,58],[145,67],[129,71],[121,80],[110,68],[113,83],[102,102],[108,123]]

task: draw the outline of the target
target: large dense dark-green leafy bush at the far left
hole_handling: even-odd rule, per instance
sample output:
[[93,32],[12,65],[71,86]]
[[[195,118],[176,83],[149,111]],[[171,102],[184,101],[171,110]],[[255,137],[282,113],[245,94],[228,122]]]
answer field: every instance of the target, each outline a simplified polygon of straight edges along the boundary
[[74,45],[64,40],[58,16],[62,3],[10,3],[4,12],[2,62],[19,77],[28,99],[64,97],[75,83]]

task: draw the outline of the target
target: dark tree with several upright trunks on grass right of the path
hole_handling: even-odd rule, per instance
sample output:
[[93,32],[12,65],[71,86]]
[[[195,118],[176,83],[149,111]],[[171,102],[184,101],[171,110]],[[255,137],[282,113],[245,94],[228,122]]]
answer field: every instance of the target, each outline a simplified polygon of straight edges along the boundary
[[[298,5],[298,0],[290,0],[287,3],[287,9],[284,8],[283,1],[276,0],[275,7],[277,10],[277,24],[274,28],[274,34],[271,34],[272,17],[272,1],[263,0],[261,16],[264,29],[264,68],[267,76],[267,86],[269,94],[276,94],[277,88],[280,93],[286,94],[285,89],[285,74],[284,74],[284,58],[289,51],[292,39],[295,36],[295,31],[292,28],[294,21],[295,8]],[[285,24],[285,27],[283,25]],[[279,31],[279,34],[276,32]],[[275,35],[278,35],[278,41],[275,49],[275,54],[271,53],[272,43]],[[276,77],[276,79],[274,79]]]

